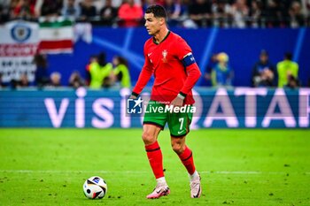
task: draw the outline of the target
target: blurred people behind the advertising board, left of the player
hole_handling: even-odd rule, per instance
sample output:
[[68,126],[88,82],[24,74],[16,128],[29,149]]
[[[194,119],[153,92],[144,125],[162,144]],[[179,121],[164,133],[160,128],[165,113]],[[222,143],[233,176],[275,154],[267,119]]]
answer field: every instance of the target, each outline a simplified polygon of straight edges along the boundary
[[89,64],[85,66],[85,79],[82,78],[80,72],[74,71],[71,73],[67,85],[61,84],[60,72],[49,72],[49,64],[45,55],[36,54],[33,64],[35,65],[35,82],[30,84],[27,75],[22,74],[20,80],[12,80],[9,85],[2,83],[0,88],[27,88],[29,86],[37,88],[89,87],[91,89],[131,87],[127,60],[124,57],[115,56],[112,63],[108,63],[105,59],[105,52],[89,57]]

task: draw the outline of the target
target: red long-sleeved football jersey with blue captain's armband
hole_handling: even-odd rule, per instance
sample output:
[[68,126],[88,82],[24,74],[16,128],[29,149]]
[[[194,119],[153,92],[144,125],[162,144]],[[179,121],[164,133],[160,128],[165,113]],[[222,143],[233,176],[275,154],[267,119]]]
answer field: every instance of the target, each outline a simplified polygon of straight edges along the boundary
[[169,104],[181,93],[186,95],[184,104],[195,103],[191,89],[201,73],[190,46],[181,36],[169,31],[160,43],[150,38],[144,44],[144,57],[145,63],[133,89],[134,94],[140,94],[154,74],[151,100]]

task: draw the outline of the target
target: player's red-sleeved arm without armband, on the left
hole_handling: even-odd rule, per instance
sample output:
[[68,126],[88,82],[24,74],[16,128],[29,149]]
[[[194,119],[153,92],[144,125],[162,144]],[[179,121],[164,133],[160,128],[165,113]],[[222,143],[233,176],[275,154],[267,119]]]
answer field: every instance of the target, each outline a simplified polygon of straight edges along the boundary
[[147,57],[144,47],[144,65],[142,71],[140,72],[139,78],[136,81],[136,86],[133,89],[130,98],[136,98],[143,90],[147,82],[151,79],[151,75],[153,74],[153,67],[151,65],[149,57]]

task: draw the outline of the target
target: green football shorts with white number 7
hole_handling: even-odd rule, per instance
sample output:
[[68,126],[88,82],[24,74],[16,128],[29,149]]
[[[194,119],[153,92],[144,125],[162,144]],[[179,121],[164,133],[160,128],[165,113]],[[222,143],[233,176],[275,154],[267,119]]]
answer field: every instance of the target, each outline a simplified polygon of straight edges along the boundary
[[184,136],[190,132],[193,112],[192,105],[186,105],[183,109],[174,112],[172,106],[150,100],[144,111],[143,124],[159,126],[163,130],[167,123],[171,136]]

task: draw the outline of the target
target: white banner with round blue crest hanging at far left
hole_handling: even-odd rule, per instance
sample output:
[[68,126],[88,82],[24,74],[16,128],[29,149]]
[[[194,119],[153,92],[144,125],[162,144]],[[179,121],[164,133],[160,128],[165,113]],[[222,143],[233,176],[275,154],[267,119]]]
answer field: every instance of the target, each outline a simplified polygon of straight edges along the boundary
[[0,27],[0,73],[4,83],[20,80],[23,74],[29,81],[35,80],[32,62],[38,42],[36,23],[16,20]]

